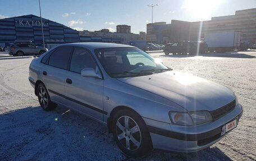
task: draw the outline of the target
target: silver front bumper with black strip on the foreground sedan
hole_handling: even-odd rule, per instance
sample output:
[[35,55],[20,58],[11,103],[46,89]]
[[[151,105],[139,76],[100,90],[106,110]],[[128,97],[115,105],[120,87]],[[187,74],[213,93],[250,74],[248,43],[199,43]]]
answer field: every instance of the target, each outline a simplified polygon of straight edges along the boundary
[[230,132],[228,131],[221,136],[221,127],[234,119],[237,119],[238,123],[242,115],[243,107],[238,104],[224,117],[211,123],[204,123],[203,125],[193,127],[170,124],[164,125],[164,123],[157,123],[159,126],[154,126],[156,125],[156,121],[149,121],[148,119],[144,120],[148,125],[154,149],[193,153],[207,148],[221,140]]

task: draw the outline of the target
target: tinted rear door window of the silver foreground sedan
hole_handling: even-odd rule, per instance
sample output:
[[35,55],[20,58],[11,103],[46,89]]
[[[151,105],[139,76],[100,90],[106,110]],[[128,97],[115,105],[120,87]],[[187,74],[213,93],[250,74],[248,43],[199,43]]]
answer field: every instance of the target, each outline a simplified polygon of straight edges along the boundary
[[54,53],[51,54],[48,65],[67,70],[71,51],[71,46],[63,46],[57,48]]

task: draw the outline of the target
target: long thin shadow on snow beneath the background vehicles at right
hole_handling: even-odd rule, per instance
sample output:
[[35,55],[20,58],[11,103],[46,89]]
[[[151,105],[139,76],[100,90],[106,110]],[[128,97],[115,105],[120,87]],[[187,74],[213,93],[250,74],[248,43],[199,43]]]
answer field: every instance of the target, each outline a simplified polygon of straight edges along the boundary
[[206,54],[198,54],[198,55],[190,55],[190,54],[170,54],[160,55],[161,57],[171,57],[171,58],[184,58],[184,57],[226,57],[226,58],[255,58],[255,56],[251,56],[248,54],[237,53],[237,52],[227,52],[227,53],[206,53]]

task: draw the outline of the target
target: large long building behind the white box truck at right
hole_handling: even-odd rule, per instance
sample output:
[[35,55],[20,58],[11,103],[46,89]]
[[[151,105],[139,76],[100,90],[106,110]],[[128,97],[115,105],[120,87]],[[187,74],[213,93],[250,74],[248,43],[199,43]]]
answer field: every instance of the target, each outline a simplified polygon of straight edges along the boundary
[[256,42],[256,8],[236,11],[235,15],[212,17],[209,21],[188,22],[172,20],[147,24],[147,42],[168,43],[181,40],[197,41],[204,33],[241,31],[241,38]]

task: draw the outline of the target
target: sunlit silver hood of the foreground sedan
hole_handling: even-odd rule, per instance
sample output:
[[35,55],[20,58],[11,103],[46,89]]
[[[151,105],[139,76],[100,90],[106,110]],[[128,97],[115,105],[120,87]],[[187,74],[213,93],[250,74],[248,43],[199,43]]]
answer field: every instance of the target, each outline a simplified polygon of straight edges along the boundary
[[235,99],[234,92],[223,85],[177,71],[118,80],[162,96],[188,111],[213,111]]

